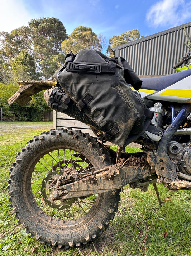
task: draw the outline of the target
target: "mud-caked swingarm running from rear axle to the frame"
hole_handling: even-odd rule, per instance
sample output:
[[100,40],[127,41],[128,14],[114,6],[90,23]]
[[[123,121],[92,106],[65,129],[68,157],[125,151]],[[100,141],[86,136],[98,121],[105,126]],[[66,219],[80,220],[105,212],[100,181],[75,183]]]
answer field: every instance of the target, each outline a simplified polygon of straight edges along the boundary
[[53,200],[87,197],[91,194],[117,190],[132,181],[147,178],[151,174],[148,165],[144,167],[128,166],[120,169],[111,165],[84,176],[77,173],[68,175],[67,178],[65,174],[59,176],[57,184],[49,188]]

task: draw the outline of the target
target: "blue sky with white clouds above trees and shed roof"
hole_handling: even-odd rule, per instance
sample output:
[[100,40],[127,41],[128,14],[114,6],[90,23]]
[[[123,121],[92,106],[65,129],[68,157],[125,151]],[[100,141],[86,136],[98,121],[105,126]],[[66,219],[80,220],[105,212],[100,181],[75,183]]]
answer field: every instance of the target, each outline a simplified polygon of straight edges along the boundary
[[[141,36],[191,22],[189,0],[0,0],[0,31],[27,26],[31,19],[55,17],[68,35],[78,26],[106,37],[137,28]],[[105,51],[106,51],[105,48]]]

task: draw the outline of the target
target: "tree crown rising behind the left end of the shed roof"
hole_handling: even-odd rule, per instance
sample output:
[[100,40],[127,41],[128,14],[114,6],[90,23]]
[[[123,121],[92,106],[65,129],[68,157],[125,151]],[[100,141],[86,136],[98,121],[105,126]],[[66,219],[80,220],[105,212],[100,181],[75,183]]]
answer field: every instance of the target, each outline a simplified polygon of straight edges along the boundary
[[127,42],[132,42],[134,40],[140,39],[143,36],[140,36],[138,29],[128,30],[125,33],[122,33],[120,36],[112,36],[109,39],[109,46],[107,49],[107,54],[112,55],[112,49],[115,46],[126,44]]

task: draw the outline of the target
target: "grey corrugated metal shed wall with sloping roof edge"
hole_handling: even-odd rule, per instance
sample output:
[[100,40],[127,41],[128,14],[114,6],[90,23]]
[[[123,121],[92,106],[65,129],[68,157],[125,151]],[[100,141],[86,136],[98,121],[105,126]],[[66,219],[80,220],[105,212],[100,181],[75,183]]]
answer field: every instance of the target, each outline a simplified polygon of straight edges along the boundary
[[191,37],[191,22],[113,48],[115,56],[125,58],[139,76],[172,74],[174,64],[185,51],[184,27]]

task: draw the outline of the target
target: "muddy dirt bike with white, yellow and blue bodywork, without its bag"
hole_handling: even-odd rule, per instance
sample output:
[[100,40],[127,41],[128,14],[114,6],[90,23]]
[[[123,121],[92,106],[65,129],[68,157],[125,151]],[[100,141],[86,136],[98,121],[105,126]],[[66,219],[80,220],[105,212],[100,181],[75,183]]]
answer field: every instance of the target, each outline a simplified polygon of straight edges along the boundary
[[[93,67],[100,72],[95,65],[74,64],[70,68]],[[96,79],[99,80],[98,73]],[[171,191],[191,189],[191,70],[142,81],[139,91],[152,116],[147,119],[147,127],[143,124],[142,132],[130,133],[128,138],[138,143],[143,152],[123,153],[121,143],[115,152],[87,133],[62,128],[35,136],[17,154],[8,181],[10,201],[19,223],[40,242],[69,248],[94,239],[114,218],[120,189],[127,184],[143,191],[156,183]],[[65,112],[70,99],[61,87],[53,87],[57,84],[58,81],[20,82],[20,90],[9,103],[24,105],[31,95],[49,89],[45,93],[48,104]],[[124,95],[123,91],[123,102]],[[86,102],[83,98],[80,107]],[[76,109],[74,102],[67,113],[83,115],[92,129],[100,129],[93,119]],[[100,131],[99,135],[104,133]]]

